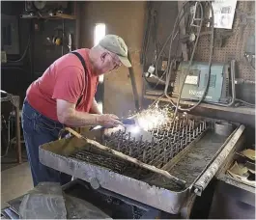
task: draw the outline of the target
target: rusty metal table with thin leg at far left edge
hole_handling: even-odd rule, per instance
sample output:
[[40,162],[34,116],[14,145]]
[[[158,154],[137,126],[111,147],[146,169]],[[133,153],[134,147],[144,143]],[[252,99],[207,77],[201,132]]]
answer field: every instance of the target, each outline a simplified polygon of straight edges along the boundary
[[1,97],[1,102],[10,101],[14,105],[15,111],[15,131],[16,131],[16,158],[18,163],[22,163],[21,141],[20,141],[20,116],[19,116],[19,96]]

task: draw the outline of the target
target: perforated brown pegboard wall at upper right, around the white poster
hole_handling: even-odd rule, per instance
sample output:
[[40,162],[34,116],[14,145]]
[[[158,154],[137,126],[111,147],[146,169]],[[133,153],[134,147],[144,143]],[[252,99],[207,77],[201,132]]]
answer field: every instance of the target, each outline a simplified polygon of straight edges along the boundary
[[[232,30],[215,29],[213,62],[226,63],[235,59],[235,77],[255,81],[255,60],[249,64],[244,56],[244,53],[255,54],[255,19],[250,17],[255,17],[255,1],[238,1]],[[195,60],[209,61],[209,41],[209,36],[202,36]],[[237,85],[236,91],[237,98],[255,103],[255,85]]]

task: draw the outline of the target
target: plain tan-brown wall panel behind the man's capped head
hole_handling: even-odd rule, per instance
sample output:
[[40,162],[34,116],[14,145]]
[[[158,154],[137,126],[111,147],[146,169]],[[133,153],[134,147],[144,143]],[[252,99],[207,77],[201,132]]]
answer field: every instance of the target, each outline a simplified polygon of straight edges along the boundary
[[[140,51],[146,2],[85,2],[81,15],[81,46],[92,47],[96,23],[105,23],[106,34],[121,36],[128,44],[138,94],[142,97]],[[104,77],[103,112],[119,117],[135,110],[128,69],[121,67]]]

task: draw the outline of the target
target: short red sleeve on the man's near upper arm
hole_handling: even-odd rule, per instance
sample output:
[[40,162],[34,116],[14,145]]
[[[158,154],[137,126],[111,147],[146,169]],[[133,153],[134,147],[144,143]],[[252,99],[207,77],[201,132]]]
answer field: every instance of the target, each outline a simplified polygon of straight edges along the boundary
[[52,98],[76,103],[84,90],[83,71],[76,67],[61,69],[56,78]]

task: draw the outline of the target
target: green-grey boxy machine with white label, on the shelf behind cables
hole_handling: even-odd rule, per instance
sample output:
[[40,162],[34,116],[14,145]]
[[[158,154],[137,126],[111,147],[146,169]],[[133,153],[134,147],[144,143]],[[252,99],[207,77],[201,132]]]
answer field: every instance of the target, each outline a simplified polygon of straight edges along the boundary
[[[185,85],[182,91],[184,100],[199,100],[203,96],[207,86],[209,65],[204,62],[192,63],[186,77],[189,63],[182,62],[177,71],[172,96],[179,96],[182,84]],[[204,97],[205,102],[228,103],[230,102],[230,65],[212,64],[208,92]]]

